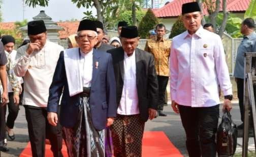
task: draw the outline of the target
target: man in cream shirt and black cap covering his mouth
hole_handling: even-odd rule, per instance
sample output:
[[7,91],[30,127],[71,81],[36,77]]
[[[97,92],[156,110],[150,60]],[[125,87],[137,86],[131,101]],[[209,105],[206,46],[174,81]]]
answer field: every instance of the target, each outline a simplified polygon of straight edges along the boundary
[[62,156],[61,126],[47,120],[49,87],[63,47],[47,40],[43,20],[28,22],[31,43],[17,49],[14,72],[24,77],[23,104],[33,156],[45,156],[45,138],[51,143],[54,156]]

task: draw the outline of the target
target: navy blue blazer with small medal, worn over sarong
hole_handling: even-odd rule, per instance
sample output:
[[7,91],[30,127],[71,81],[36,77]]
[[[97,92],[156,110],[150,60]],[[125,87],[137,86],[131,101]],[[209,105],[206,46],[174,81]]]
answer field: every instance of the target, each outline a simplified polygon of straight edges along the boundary
[[[79,53],[79,51],[74,51],[74,53]],[[107,118],[116,116],[116,83],[111,55],[93,49],[93,63],[95,62],[99,62],[101,66],[97,68],[93,66],[89,104],[93,126],[97,130],[102,130],[106,127]],[[79,94],[74,96],[69,94],[64,55],[61,51],[49,89],[48,112],[57,113],[63,87],[60,124],[63,127],[72,128],[78,120],[80,98]]]

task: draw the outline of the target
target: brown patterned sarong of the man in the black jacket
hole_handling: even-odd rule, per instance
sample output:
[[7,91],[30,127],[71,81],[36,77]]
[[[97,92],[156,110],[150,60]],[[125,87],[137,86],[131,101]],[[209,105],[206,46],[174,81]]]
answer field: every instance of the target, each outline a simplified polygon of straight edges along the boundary
[[140,115],[118,115],[111,126],[116,157],[140,157],[145,122]]

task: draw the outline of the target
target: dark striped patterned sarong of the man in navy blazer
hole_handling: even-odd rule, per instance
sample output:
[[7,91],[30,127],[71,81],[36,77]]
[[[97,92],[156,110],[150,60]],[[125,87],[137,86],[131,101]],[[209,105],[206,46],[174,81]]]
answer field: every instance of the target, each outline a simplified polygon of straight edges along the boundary
[[81,98],[78,119],[74,128],[62,128],[69,156],[104,157],[105,130],[93,127],[88,97]]

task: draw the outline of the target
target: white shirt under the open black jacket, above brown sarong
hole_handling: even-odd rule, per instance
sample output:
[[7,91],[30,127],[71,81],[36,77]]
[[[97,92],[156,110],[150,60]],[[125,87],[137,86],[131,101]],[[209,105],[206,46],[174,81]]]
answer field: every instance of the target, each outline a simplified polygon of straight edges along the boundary
[[136,115],[139,114],[139,99],[136,84],[136,58],[135,51],[132,56],[128,57],[124,53],[123,68],[123,90],[117,114],[119,115]]

